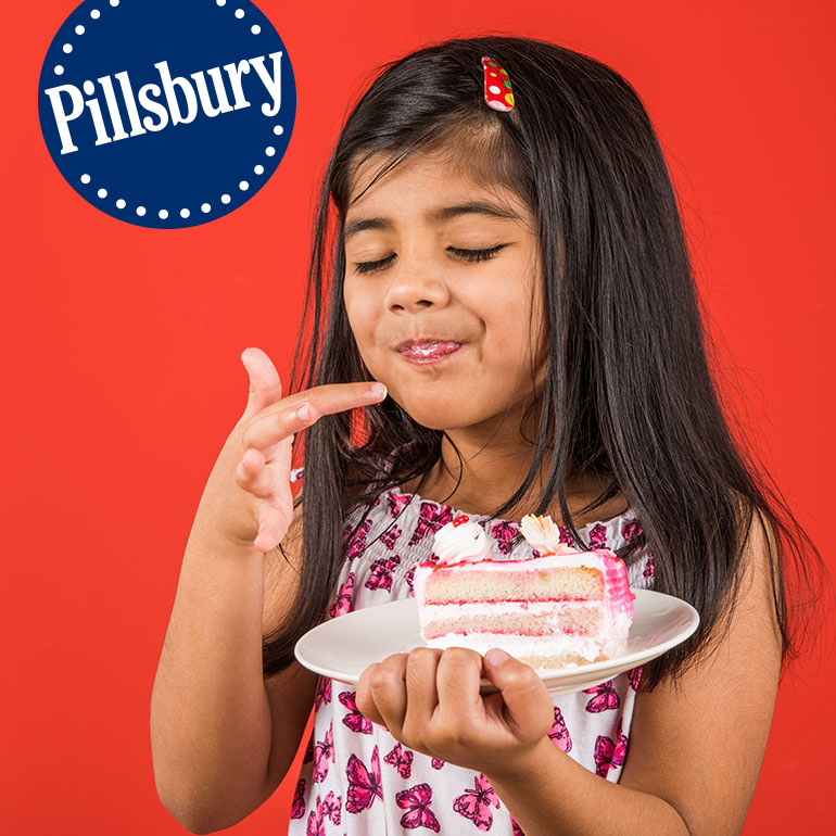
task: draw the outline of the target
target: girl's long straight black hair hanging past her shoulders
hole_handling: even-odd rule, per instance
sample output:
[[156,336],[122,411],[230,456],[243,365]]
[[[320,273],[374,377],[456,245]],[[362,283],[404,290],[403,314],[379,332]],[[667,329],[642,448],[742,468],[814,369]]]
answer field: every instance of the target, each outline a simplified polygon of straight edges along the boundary
[[[483,55],[509,74],[516,106],[508,113],[483,101]],[[655,588],[689,601],[701,619],[692,639],[646,667],[643,687],[675,679],[722,632],[760,516],[774,534],[770,568],[784,658],[796,656],[787,579],[796,571],[798,588],[815,593],[823,563],[731,430],[662,151],[638,96],[608,66],[504,36],[430,45],[384,65],[349,115],[325,173],[291,390],[370,379],[342,300],[353,176],[376,154],[388,161],[382,177],[427,151],[480,182],[510,188],[531,207],[545,325],[563,334],[549,340],[547,376],[531,407],[539,419],[531,467],[494,516],[515,507],[543,473],[531,512],[545,514],[557,497],[575,543],[588,546],[568,506],[570,467],[608,478],[587,509],[618,492],[629,501],[641,534],[621,556],[651,550]],[[387,397],[362,414],[324,416],[295,440],[296,460],[307,463],[303,569],[281,626],[265,637],[265,675],[286,668],[296,639],[327,617],[346,515],[362,509],[358,528],[381,491],[428,472],[443,435]]]

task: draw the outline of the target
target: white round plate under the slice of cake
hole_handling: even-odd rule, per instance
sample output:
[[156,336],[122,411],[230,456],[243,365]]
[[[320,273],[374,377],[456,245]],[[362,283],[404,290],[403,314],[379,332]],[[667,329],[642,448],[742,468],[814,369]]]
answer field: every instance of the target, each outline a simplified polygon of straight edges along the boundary
[[[635,613],[623,656],[574,668],[537,671],[553,696],[572,694],[649,662],[684,642],[699,624],[689,604],[650,590],[633,590]],[[296,659],[322,676],[356,685],[363,671],[392,654],[425,647],[415,598],[367,607],[326,621],[296,642]],[[496,688],[482,680],[482,694]]]

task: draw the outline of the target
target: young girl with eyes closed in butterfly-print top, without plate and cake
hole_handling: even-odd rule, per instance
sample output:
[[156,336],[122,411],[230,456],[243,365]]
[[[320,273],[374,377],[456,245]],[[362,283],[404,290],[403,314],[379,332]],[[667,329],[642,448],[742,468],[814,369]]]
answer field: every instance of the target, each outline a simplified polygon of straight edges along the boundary
[[[786,572],[818,553],[727,428],[632,88],[521,38],[393,62],[328,166],[292,394],[242,355],[246,409],[189,537],[151,705],[163,803],[193,833],[240,821],[313,707],[296,836],[737,833],[796,650]],[[554,699],[498,650],[396,654],[356,688],[294,660],[324,620],[410,595],[459,512],[496,558],[550,514],[700,628]]]

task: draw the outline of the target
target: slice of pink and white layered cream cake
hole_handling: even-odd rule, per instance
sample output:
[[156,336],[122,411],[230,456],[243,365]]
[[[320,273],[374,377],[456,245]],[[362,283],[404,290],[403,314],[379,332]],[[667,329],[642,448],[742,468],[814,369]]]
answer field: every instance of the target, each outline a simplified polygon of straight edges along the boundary
[[608,548],[560,543],[550,517],[523,517],[537,556],[493,560],[466,515],[435,534],[439,561],[415,570],[421,637],[429,647],[499,647],[533,668],[585,664],[624,651],[633,620],[626,568]]

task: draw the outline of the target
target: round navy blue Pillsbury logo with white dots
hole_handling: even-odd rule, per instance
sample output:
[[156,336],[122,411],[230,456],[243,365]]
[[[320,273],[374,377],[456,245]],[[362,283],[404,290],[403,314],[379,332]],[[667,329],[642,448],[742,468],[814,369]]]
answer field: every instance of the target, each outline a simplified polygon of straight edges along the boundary
[[290,142],[296,86],[279,34],[248,0],[86,0],[47,51],[38,113],[86,201],[181,229],[267,182]]

